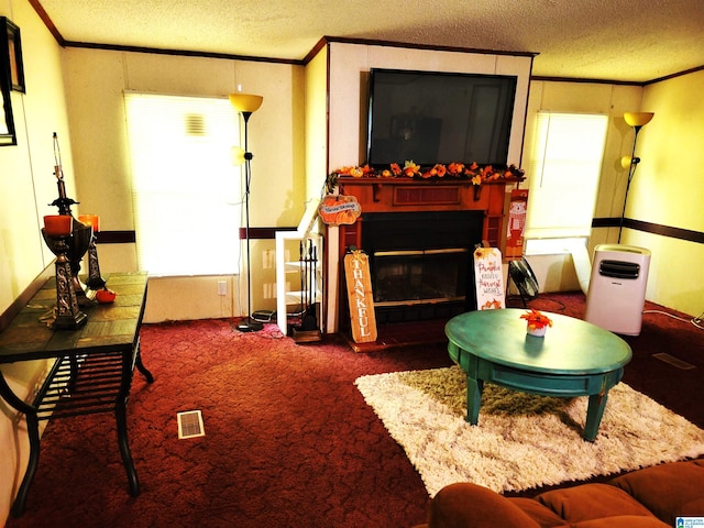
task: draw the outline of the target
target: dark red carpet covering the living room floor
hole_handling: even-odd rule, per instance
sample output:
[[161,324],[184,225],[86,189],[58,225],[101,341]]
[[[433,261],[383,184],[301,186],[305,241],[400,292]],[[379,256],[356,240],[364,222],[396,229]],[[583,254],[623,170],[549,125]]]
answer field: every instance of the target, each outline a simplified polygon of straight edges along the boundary
[[[581,317],[584,296],[544,295],[531,305]],[[641,336],[627,338],[634,360],[625,378],[700,427],[703,336],[689,322],[645,315]],[[656,352],[695,369],[676,369],[652,358]],[[232,321],[205,320],[144,326],[142,354],[155,383],[135,372],[128,415],[141,496],[128,495],[111,415],[56,420],[42,440],[28,510],[8,527],[410,527],[425,520],[420,477],[353,382],[448,366],[443,344],[355,353],[334,338],[297,345],[273,324],[240,333]],[[195,409],[202,410],[206,437],[178,440],[176,414]]]

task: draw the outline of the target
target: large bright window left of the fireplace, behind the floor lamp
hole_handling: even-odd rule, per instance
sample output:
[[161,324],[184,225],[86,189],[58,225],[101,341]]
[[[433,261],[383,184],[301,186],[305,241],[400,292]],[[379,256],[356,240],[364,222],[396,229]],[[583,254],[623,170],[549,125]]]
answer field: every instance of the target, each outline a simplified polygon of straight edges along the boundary
[[136,253],[152,275],[239,271],[239,117],[228,99],[127,92]]

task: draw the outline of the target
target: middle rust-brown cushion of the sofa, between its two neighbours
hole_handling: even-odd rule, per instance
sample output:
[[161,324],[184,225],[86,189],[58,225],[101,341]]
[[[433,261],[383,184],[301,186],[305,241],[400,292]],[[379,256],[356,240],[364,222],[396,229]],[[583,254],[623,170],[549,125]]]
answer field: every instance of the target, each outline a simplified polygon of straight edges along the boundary
[[553,490],[538,495],[536,499],[572,524],[618,515],[654,518],[638,501],[609,484]]

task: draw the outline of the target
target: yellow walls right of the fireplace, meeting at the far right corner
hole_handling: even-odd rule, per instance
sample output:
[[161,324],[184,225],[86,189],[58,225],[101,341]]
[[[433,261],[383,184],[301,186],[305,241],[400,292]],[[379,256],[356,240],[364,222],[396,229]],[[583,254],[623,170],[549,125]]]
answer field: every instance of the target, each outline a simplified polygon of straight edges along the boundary
[[[664,227],[704,232],[704,180],[696,168],[704,163],[700,147],[704,107],[704,72],[639,86],[534,81],[526,127],[526,152],[540,110],[603,113],[609,117],[595,218],[620,218],[628,172],[622,156],[630,156],[634,132],[623,119],[628,111],[653,111],[656,117],[638,135],[641,158],[631,183],[626,217]],[[530,178],[530,174],[526,175]],[[529,180],[527,182],[529,184]],[[528,202],[530,207],[530,200]],[[616,243],[618,228],[592,229],[590,254],[597,244]],[[696,316],[704,309],[704,244],[625,229],[622,243],[652,252],[646,298]],[[528,257],[547,292],[579,289],[569,255]]]

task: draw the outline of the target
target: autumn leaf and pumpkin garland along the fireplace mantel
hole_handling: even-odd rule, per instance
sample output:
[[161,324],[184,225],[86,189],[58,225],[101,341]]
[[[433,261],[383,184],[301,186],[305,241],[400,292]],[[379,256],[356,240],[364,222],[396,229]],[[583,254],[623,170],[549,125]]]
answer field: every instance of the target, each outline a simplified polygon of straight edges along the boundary
[[392,163],[388,168],[376,170],[369,165],[349,166],[334,170],[328,178],[329,185],[337,183],[338,176],[351,176],[353,178],[465,178],[470,179],[473,185],[482,185],[486,182],[498,179],[518,178],[522,179],[525,170],[516,165],[509,165],[507,168],[496,169],[492,165],[481,167],[475,163],[465,165],[464,163],[450,163],[443,165],[440,163],[431,167],[421,167],[414,161],[406,161],[403,167],[398,163]]

